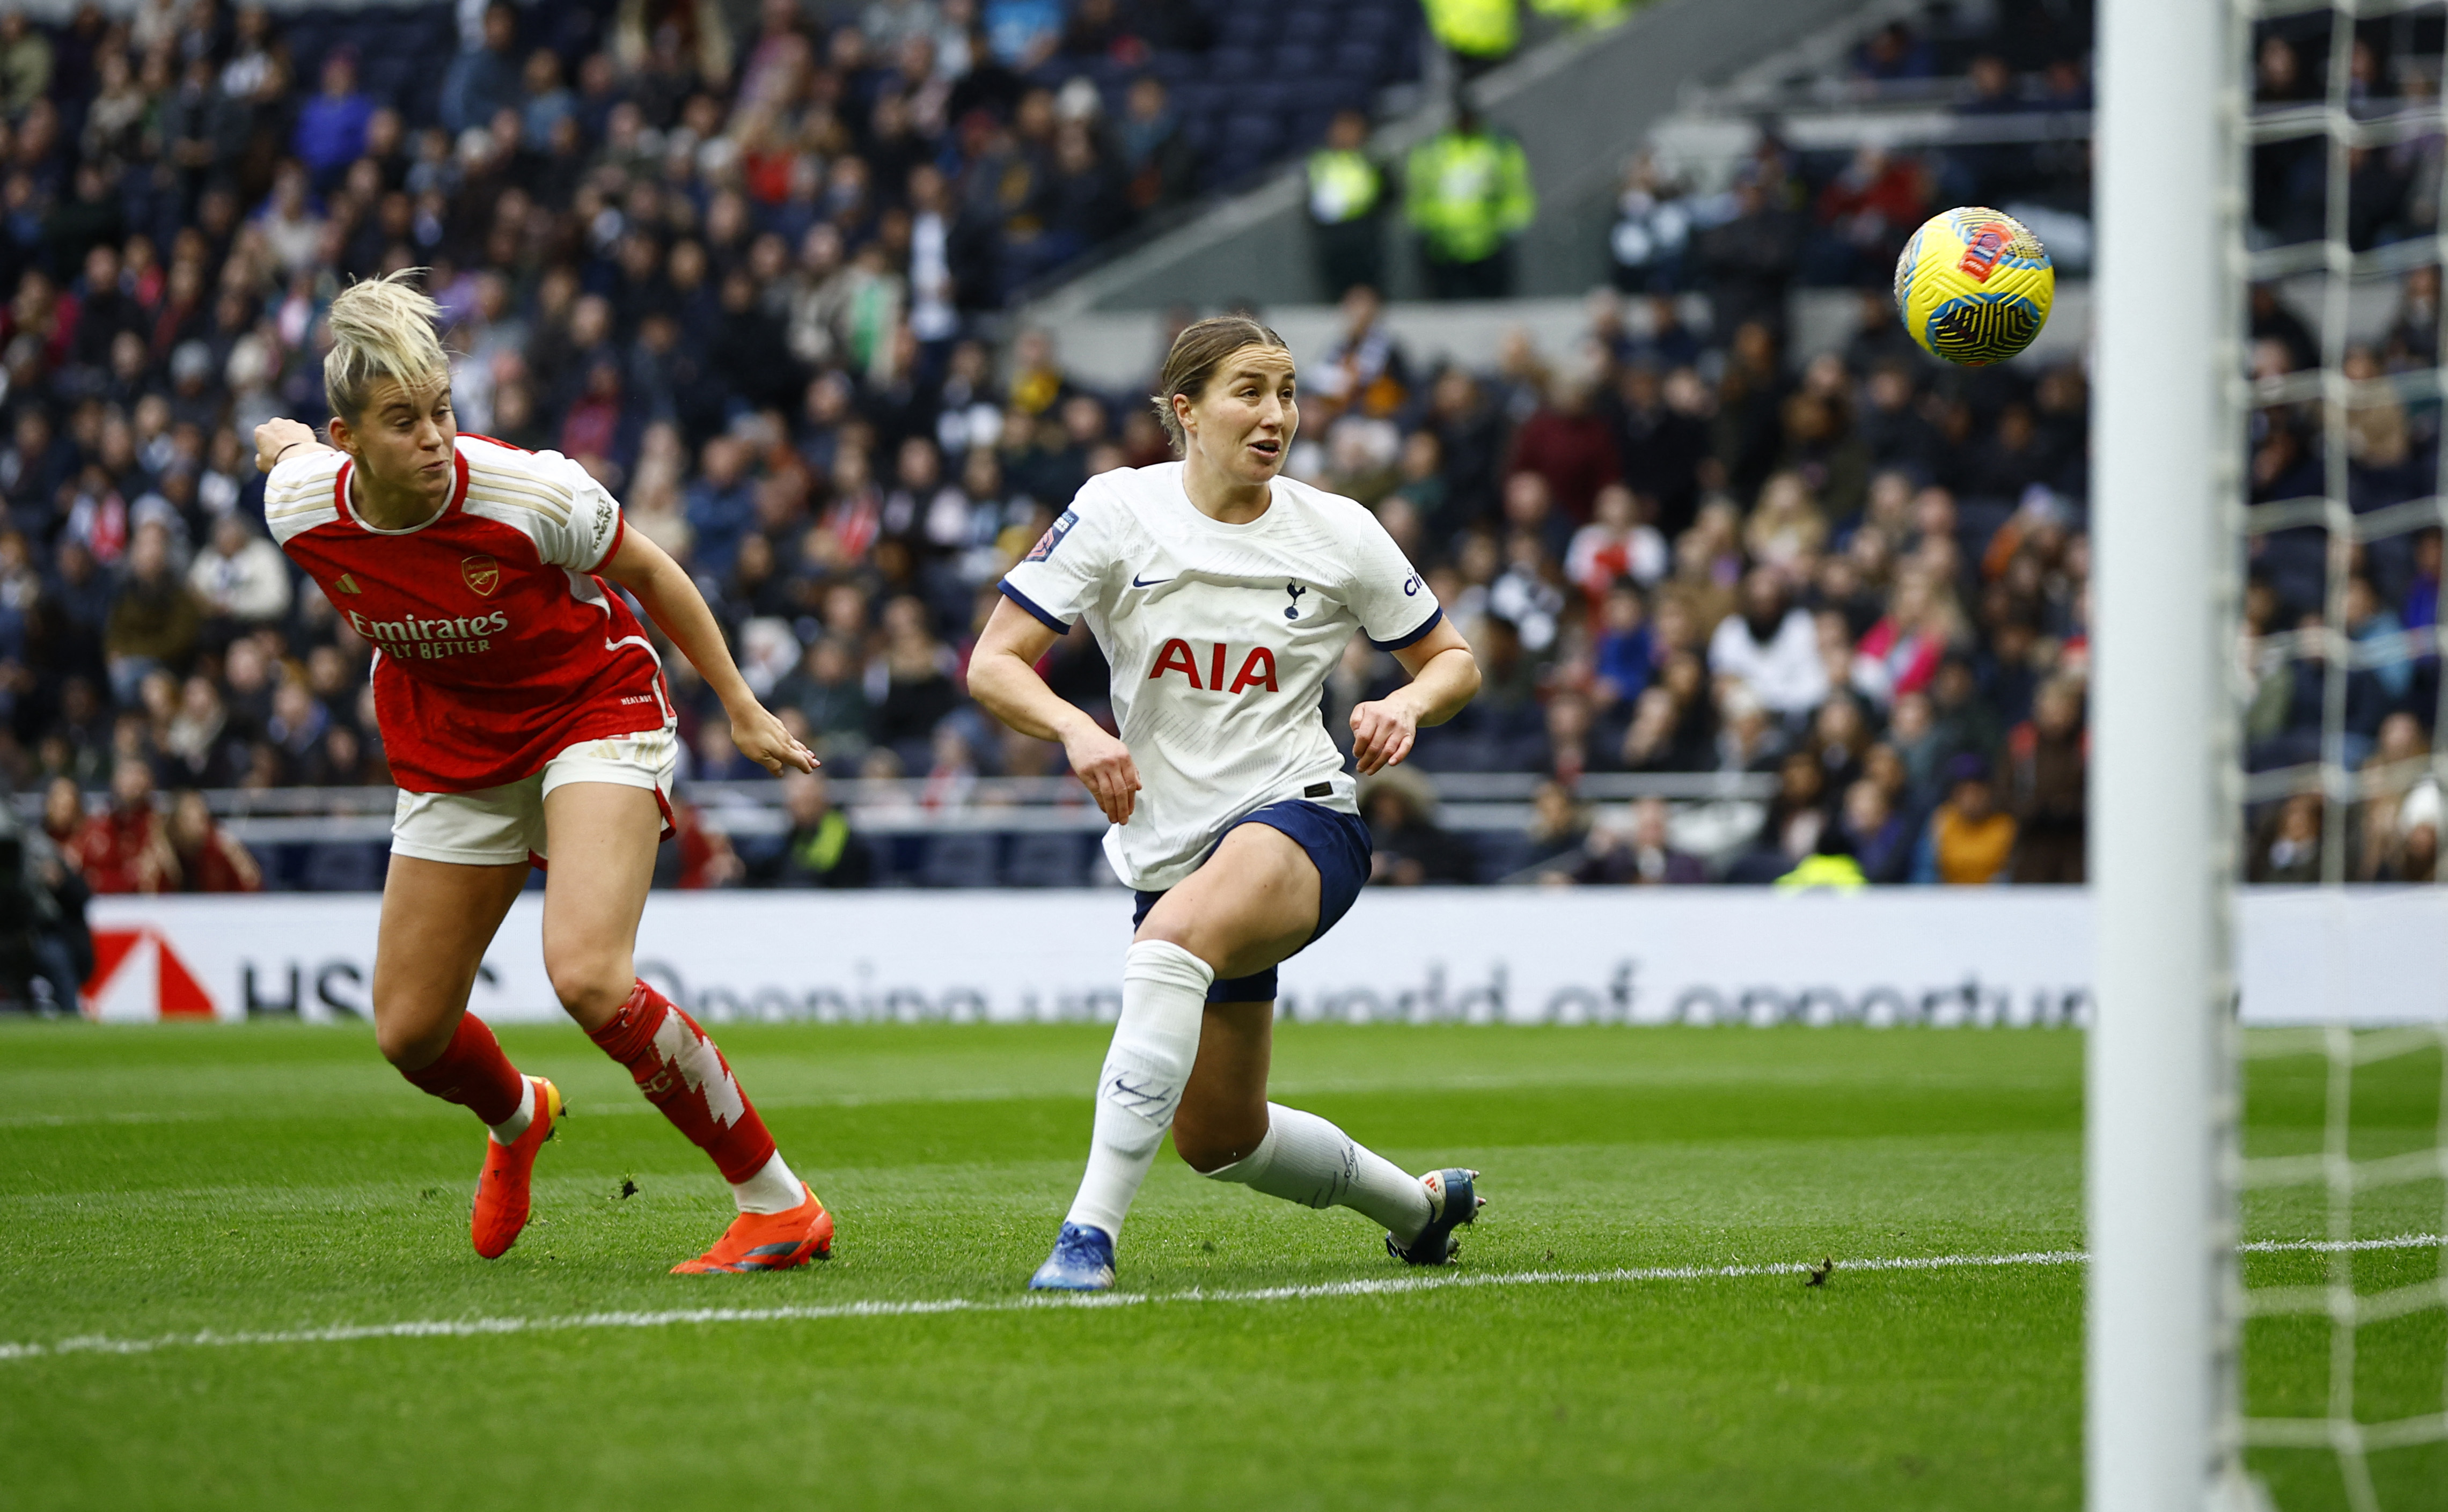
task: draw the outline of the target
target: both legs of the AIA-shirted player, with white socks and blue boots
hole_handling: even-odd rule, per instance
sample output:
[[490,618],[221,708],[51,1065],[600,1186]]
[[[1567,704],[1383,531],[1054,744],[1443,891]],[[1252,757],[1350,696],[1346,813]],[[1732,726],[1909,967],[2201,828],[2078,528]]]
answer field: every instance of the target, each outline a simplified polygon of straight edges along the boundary
[[[1449,1172],[1425,1184],[1324,1118],[1268,1103],[1275,1006],[1207,1003],[1219,976],[1251,976],[1307,944],[1317,895],[1317,864],[1293,837],[1239,825],[1148,910],[1124,964],[1087,1174],[1033,1287],[1111,1287],[1111,1240],[1168,1125],[1175,1150],[1207,1177],[1312,1209],[1359,1209],[1386,1226],[1395,1255],[1420,1250]],[[1476,1194],[1461,1187],[1452,1206],[1469,1221],[1459,1214],[1476,1211]],[[1444,1238],[1435,1236],[1437,1260]]]

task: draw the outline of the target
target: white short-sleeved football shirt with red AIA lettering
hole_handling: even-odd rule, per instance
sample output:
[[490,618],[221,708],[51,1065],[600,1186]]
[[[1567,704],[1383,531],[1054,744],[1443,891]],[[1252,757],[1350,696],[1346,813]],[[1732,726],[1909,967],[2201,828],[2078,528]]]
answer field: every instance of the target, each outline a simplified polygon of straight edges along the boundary
[[1444,617],[1356,502],[1278,477],[1266,514],[1231,526],[1200,514],[1180,462],[1092,477],[1004,595],[1055,631],[1087,619],[1114,668],[1141,793],[1104,854],[1148,893],[1253,807],[1359,812],[1319,717],[1327,673],[1354,629],[1395,651]]

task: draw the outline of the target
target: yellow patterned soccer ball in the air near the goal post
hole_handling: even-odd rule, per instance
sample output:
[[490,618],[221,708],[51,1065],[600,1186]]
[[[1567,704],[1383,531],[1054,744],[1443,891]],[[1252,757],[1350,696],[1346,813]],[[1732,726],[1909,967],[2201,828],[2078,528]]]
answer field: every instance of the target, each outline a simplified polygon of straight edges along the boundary
[[2056,269],[2012,215],[1963,206],[1922,223],[1895,259],[1895,311],[1931,357],[1988,367],[2049,323]]

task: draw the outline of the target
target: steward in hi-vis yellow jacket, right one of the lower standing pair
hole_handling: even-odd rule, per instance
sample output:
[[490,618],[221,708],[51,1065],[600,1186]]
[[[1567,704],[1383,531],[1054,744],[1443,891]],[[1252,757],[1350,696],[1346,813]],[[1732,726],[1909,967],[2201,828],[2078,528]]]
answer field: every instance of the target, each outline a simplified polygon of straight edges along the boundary
[[1457,105],[1454,125],[1410,149],[1403,206],[1430,298],[1513,294],[1513,237],[1537,215],[1520,142]]

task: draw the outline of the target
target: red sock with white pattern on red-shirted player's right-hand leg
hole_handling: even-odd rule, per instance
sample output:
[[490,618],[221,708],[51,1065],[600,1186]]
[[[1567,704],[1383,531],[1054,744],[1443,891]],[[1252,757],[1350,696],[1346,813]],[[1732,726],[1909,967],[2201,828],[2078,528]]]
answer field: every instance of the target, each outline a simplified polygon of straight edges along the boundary
[[588,1037],[715,1160],[742,1214],[786,1214],[808,1199],[730,1062],[671,998],[639,981],[612,1023]]

